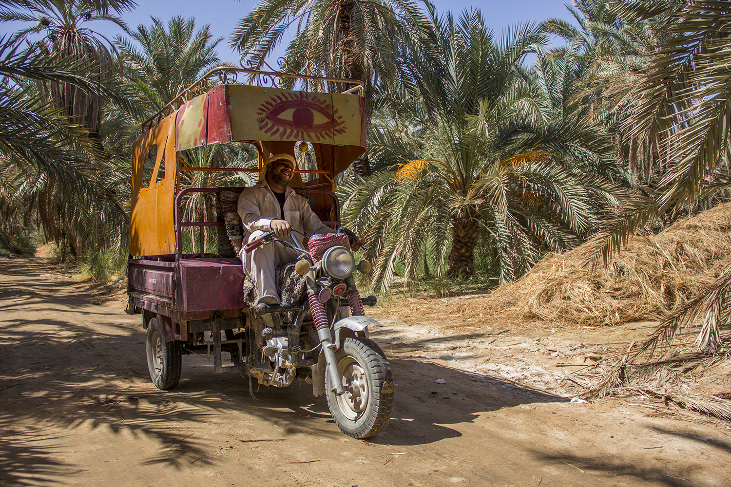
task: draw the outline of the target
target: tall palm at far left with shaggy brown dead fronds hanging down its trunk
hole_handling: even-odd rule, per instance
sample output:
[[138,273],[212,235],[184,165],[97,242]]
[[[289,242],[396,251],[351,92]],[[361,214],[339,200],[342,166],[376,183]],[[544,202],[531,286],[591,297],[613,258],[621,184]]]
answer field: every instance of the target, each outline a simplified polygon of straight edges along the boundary
[[[17,32],[12,43],[18,44],[32,34],[46,32],[26,53],[37,66],[58,72],[58,76],[47,73],[42,77],[32,77],[37,82],[39,93],[24,83],[25,78],[19,83],[25,87],[23,91],[7,92],[13,103],[22,101],[26,110],[42,120],[53,122],[56,132],[49,134],[49,126],[31,126],[20,134],[18,132],[23,131],[24,123],[18,118],[8,120],[8,125],[14,129],[11,133],[19,136],[17,140],[8,142],[9,146],[31,141],[37,144],[39,139],[43,139],[50,147],[38,153],[26,150],[23,156],[18,157],[10,153],[4,162],[20,168],[29,180],[36,181],[34,191],[45,191],[47,197],[37,200],[45,202],[45,205],[29,208],[29,212],[40,217],[38,223],[48,238],[69,242],[70,250],[77,259],[82,258],[89,243],[118,245],[119,239],[111,237],[115,231],[99,233],[100,221],[118,222],[115,229],[122,232],[126,228],[124,211],[110,193],[111,188],[96,180],[99,171],[107,164],[98,157],[104,150],[99,130],[106,100],[115,100],[134,111],[128,101],[115,93],[118,83],[111,78],[108,39],[102,37],[105,44],[82,24],[89,20],[111,20],[124,28],[124,23],[109,12],[122,12],[134,6],[134,2],[129,0],[18,0],[3,2],[4,8],[0,13],[0,20],[32,23],[29,28]],[[85,81],[79,83],[79,80]],[[107,89],[99,89],[103,85]],[[48,103],[43,103],[42,99]],[[54,109],[58,111],[51,112]],[[91,145],[78,137],[81,133]],[[59,152],[65,154],[48,158]],[[45,167],[29,168],[25,166],[28,163],[41,163]],[[64,177],[54,179],[48,170],[59,168],[63,168]],[[30,188],[26,186],[26,189]],[[88,202],[90,197],[94,197],[94,202]],[[43,218],[42,212],[47,212],[48,218]]]

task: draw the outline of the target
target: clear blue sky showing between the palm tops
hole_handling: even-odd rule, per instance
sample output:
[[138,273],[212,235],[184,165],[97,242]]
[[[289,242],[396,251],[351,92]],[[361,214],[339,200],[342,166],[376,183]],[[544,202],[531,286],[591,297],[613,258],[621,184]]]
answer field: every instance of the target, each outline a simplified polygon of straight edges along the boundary
[[[154,16],[167,20],[175,15],[181,15],[196,19],[196,26],[201,27],[211,24],[211,32],[214,37],[224,37],[219,44],[218,51],[223,61],[238,64],[238,55],[228,47],[228,38],[238,21],[243,18],[256,4],[255,0],[136,0],[138,7],[132,12],[125,12],[122,15],[124,22],[129,28],[135,28],[140,23],[151,23],[150,17]],[[482,0],[476,2],[464,0],[433,0],[438,12],[447,12],[458,15],[463,9],[477,7],[482,10],[488,19],[488,25],[495,31],[501,31],[507,26],[515,23],[530,20],[541,21],[547,18],[563,18],[572,20],[564,4],[570,0]],[[100,34],[113,39],[118,34],[123,34],[121,28],[112,23],[90,22],[89,28],[98,31]],[[19,26],[15,23],[0,24],[3,34],[15,31]],[[279,47],[279,55],[284,53],[284,48],[289,43],[289,37],[285,34],[284,41]]]

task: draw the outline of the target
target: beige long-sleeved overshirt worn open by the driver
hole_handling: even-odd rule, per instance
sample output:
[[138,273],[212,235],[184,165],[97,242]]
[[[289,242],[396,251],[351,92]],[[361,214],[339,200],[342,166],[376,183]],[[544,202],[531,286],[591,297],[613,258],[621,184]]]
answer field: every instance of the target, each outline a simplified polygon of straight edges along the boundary
[[[317,215],[312,211],[310,204],[302,196],[295,193],[292,188],[284,190],[284,220],[293,230],[307,234],[329,234],[333,232],[329,226],[322,224]],[[246,230],[244,242],[249,241],[249,235],[257,230],[270,231],[272,220],[281,218],[279,201],[269,188],[266,180],[245,188],[238,198],[238,215]],[[302,245],[302,235],[292,233],[292,237]]]

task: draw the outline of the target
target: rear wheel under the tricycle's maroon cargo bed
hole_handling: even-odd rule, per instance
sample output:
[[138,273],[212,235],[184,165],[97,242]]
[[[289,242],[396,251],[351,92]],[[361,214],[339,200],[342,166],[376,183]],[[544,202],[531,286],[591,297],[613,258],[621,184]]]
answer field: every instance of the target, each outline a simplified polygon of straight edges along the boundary
[[166,342],[157,318],[147,326],[147,368],[152,383],[162,390],[172,389],[181,380],[183,345],[180,340]]

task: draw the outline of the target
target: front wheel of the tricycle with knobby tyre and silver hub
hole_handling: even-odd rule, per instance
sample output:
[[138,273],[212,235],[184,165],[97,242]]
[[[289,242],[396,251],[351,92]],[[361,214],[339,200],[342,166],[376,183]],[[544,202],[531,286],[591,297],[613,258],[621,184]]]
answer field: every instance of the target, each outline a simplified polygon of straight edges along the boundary
[[366,338],[346,338],[336,360],[345,392],[336,395],[329,374],[325,374],[330,414],[340,431],[349,437],[371,437],[384,429],[391,418],[391,367],[379,346]]

